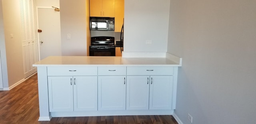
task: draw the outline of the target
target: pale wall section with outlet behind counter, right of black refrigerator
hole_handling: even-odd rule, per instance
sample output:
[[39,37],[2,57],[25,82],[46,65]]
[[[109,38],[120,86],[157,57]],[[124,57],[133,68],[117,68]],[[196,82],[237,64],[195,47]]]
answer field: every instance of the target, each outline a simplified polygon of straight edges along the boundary
[[166,52],[169,9],[170,0],[125,0],[124,52]]

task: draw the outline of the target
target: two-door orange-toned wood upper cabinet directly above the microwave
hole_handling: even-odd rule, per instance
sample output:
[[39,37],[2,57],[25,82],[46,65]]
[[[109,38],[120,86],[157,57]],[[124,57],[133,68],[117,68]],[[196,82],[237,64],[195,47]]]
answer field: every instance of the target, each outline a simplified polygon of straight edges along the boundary
[[115,0],[90,0],[90,16],[114,17]]

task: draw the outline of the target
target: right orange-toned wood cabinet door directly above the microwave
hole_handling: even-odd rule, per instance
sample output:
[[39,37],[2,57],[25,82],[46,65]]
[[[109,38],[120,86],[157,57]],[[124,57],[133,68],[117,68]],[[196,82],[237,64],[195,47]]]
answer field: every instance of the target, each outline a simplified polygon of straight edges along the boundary
[[103,17],[115,17],[115,0],[102,0]]

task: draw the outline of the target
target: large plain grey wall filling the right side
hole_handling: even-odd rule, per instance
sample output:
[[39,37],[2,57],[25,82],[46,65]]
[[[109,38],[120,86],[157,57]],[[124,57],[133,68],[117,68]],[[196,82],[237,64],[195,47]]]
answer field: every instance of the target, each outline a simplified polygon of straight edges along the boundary
[[184,124],[255,124],[256,1],[170,0],[168,52],[182,57]]

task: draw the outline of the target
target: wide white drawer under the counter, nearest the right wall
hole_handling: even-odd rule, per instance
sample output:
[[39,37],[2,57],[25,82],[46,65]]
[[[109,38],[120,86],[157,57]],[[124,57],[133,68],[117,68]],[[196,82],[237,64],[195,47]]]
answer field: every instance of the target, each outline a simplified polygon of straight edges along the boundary
[[127,67],[127,75],[173,75],[173,67]]

